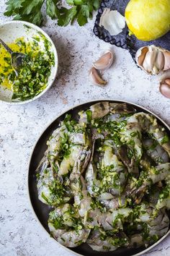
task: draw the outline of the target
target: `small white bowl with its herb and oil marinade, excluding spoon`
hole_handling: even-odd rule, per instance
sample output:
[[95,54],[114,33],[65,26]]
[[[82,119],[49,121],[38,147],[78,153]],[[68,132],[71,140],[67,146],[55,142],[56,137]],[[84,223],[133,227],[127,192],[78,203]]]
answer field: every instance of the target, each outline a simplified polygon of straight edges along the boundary
[[1,39],[14,52],[25,54],[22,66],[12,68],[11,56],[0,44],[0,99],[26,103],[40,97],[55,80],[58,56],[52,40],[28,22],[8,22],[0,27]]

